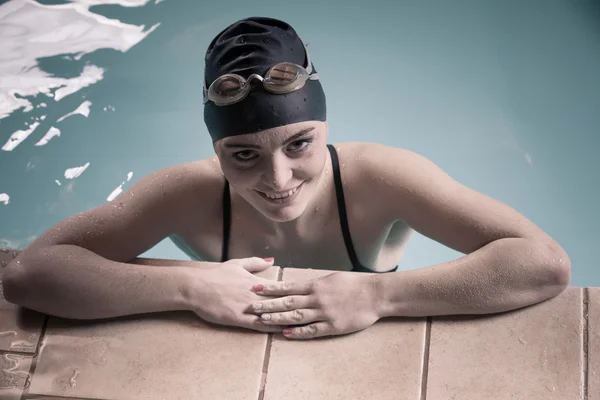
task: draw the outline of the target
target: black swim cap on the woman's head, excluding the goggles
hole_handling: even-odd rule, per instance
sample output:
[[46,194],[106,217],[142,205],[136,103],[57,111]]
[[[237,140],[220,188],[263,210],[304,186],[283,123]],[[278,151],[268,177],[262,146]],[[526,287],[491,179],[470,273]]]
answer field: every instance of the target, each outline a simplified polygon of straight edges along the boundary
[[[287,23],[272,18],[240,20],[220,32],[208,46],[204,85],[224,74],[248,78],[264,76],[275,64],[291,62],[307,67],[304,43]],[[313,72],[316,72],[313,65]],[[287,94],[273,94],[260,82],[240,102],[204,105],[204,122],[213,143],[228,136],[256,133],[264,129],[302,121],[325,121],[325,93],[318,80],[308,80],[303,88]]]

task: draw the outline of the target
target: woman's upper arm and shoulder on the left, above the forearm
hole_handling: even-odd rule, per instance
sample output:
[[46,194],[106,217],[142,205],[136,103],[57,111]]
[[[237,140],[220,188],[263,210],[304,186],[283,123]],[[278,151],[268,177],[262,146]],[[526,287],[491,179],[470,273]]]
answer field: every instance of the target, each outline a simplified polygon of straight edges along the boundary
[[75,214],[30,247],[76,245],[115,261],[129,261],[177,233],[190,213],[202,226],[218,204],[223,176],[206,159],[154,171],[114,200]]

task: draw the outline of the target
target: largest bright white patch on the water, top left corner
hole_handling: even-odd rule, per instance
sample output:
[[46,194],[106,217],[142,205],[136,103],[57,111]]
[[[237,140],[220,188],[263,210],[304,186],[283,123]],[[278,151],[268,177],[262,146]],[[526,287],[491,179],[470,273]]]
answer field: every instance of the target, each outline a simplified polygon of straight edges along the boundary
[[81,58],[99,49],[126,52],[159,26],[144,31],[143,25],[95,14],[89,10],[91,6],[137,7],[149,1],[78,0],[46,5],[34,0],[12,0],[2,4],[0,120],[18,109],[31,111],[33,105],[23,97],[43,93],[58,101],[103,79],[104,69],[92,64],[86,65],[79,76],[56,77],[39,68],[39,59],[61,54],[76,54],[75,58]]

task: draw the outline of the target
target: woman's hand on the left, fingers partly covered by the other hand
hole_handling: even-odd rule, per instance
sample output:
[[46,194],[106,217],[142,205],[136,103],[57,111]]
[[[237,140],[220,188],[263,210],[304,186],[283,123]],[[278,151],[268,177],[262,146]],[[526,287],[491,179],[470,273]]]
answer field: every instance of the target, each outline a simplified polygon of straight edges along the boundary
[[266,299],[252,291],[256,284],[268,279],[253,275],[273,266],[273,260],[251,257],[215,263],[213,268],[194,268],[188,280],[188,308],[205,321],[254,329],[261,332],[281,332],[283,327],[265,325],[248,306]]

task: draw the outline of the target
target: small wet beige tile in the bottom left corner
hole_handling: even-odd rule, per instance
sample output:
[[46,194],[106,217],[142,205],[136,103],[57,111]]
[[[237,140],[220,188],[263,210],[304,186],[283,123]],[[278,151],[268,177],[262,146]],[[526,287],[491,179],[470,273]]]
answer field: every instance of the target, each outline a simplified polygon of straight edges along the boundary
[[20,400],[30,382],[32,356],[0,354],[0,399]]

